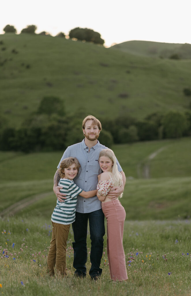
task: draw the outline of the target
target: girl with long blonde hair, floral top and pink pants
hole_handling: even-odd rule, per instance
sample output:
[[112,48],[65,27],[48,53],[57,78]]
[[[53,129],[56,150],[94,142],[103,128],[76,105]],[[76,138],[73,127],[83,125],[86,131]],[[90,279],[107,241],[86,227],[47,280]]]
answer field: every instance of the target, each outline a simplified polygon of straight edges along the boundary
[[[112,187],[122,186],[122,175],[117,169],[116,157],[111,149],[103,149],[98,160],[103,173],[98,176],[97,197],[101,201],[102,210],[107,219],[107,256],[110,276],[114,281],[123,281],[128,279],[123,249],[126,213],[119,198],[111,200],[107,197]],[[122,197],[122,194],[119,197]]]

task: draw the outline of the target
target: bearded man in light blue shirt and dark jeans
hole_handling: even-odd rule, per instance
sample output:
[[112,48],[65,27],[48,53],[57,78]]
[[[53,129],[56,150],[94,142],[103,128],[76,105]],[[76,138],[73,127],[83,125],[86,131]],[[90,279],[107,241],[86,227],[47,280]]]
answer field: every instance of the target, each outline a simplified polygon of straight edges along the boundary
[[[98,183],[98,175],[101,169],[98,163],[99,153],[102,149],[107,147],[101,145],[97,140],[101,131],[100,121],[92,115],[88,115],[82,123],[82,129],[85,139],[81,143],[69,146],[60,162],[69,156],[76,157],[81,165],[77,177],[74,182],[84,191],[95,190]],[[60,165],[60,163],[59,163]],[[59,168],[59,165],[57,168]],[[123,191],[125,185],[125,174],[122,171],[118,161],[117,166],[119,172],[122,174],[123,186],[114,187],[114,191],[109,192],[111,200],[116,199]],[[59,201],[64,202],[64,194],[59,192],[62,187],[57,186],[59,182],[59,173],[56,171],[54,176],[54,193]],[[66,199],[66,198],[65,198]],[[100,268],[101,257],[103,253],[103,236],[105,234],[104,215],[101,209],[101,202],[97,196],[85,199],[77,197],[76,207],[76,220],[72,224],[74,232],[73,249],[74,249],[74,262],[73,266],[76,269],[76,276],[86,276],[86,266],[88,252],[87,252],[87,230],[88,219],[90,226],[90,239],[91,239],[91,252],[90,262],[91,268],[89,274],[92,279],[97,279],[101,275],[102,269]]]

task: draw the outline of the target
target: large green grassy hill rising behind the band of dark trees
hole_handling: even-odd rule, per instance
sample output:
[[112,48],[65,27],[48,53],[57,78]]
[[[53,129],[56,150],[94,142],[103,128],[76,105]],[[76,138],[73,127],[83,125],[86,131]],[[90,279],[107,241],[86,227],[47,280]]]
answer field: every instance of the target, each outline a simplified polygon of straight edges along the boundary
[[44,96],[98,118],[187,110],[191,61],[120,52],[52,36],[0,36],[0,114],[20,126]]

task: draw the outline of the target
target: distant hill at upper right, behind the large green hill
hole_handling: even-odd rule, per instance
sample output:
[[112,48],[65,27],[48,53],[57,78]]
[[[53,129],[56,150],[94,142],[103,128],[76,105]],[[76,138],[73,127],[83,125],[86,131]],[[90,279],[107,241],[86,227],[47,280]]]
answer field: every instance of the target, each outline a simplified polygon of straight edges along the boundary
[[169,58],[177,54],[181,59],[191,59],[191,44],[161,43],[153,41],[133,40],[111,46],[122,52],[138,56]]

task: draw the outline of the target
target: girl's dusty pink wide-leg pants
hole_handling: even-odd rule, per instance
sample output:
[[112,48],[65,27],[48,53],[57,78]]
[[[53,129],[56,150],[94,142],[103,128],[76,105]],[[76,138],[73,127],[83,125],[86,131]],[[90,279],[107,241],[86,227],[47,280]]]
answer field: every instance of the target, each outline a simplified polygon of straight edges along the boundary
[[128,279],[123,249],[123,228],[125,209],[119,200],[101,203],[107,219],[107,256],[111,279],[123,281]]

